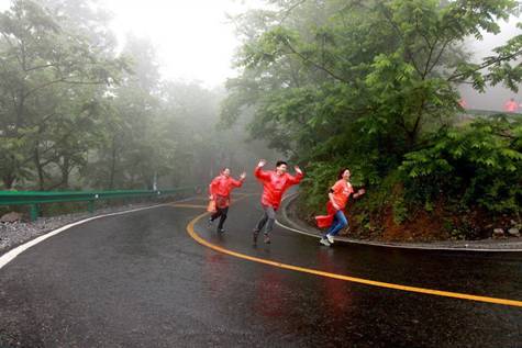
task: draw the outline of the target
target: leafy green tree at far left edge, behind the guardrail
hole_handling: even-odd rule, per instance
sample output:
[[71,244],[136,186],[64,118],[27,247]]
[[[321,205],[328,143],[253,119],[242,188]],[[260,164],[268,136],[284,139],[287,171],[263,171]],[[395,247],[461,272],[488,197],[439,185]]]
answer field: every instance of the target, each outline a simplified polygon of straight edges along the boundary
[[74,25],[30,0],[0,14],[0,143],[10,164],[0,175],[8,189],[35,178],[38,189],[67,187],[103,138],[100,105],[124,63]]

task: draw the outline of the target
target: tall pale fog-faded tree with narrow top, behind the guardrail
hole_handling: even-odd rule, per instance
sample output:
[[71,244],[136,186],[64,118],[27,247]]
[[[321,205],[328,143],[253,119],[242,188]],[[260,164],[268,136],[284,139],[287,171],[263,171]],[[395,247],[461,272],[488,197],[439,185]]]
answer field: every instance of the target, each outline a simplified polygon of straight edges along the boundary
[[111,90],[113,120],[88,172],[97,187],[152,189],[155,178],[171,168],[175,147],[160,120],[164,106],[156,53],[151,42],[130,35],[123,55],[130,71]]

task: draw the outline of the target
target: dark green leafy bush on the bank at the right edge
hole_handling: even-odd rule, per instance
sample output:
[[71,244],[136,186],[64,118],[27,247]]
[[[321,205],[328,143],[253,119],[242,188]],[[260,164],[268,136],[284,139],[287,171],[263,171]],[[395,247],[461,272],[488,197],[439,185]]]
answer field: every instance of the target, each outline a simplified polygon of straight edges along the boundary
[[[442,192],[458,192],[464,204],[518,213],[522,191],[520,126],[520,121],[500,117],[448,130],[429,147],[407,154],[400,169],[413,187],[427,180]],[[427,194],[424,200],[438,193]]]

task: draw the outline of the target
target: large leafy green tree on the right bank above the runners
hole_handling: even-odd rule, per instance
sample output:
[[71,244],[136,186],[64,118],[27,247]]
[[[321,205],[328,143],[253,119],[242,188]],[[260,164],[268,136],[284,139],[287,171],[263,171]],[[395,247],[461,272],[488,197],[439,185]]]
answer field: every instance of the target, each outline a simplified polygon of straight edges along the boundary
[[[325,197],[336,167],[351,167],[359,183],[378,191],[403,162],[410,175],[431,167],[442,170],[445,159],[437,146],[451,134],[478,136],[482,130],[484,142],[497,139],[487,135],[486,120],[455,128],[462,111],[458,87],[484,91],[502,83],[517,91],[522,35],[479,60],[466,48],[469,37],[480,41],[485,33],[499,33],[498,22],[513,13],[515,1],[268,2],[274,10],[235,19],[243,38],[236,57],[241,74],[227,82],[222,122],[233,124],[252,111],[254,138],[312,164],[303,186],[309,207],[316,209],[319,195]],[[510,154],[506,166],[512,169],[520,159],[519,149],[510,146],[491,156]],[[493,176],[491,171],[484,179]],[[404,175],[398,180],[409,179]],[[520,181],[508,182],[520,188]],[[426,184],[435,191],[440,183]],[[460,190],[465,202],[477,203],[478,193],[469,195],[468,189],[474,190]],[[490,203],[485,205],[491,211],[502,210]]]

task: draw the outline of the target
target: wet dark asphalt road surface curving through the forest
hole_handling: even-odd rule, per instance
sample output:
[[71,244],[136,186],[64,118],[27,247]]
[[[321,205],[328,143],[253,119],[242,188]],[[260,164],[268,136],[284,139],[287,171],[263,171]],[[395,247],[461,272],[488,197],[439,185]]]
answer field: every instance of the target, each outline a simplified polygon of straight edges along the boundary
[[[212,244],[398,284],[522,300],[522,255],[334,245],[276,227],[252,246],[248,197]],[[202,200],[187,202],[203,204]],[[0,347],[522,347],[522,308],[284,270],[197,244],[196,207],[74,227],[0,269]]]

